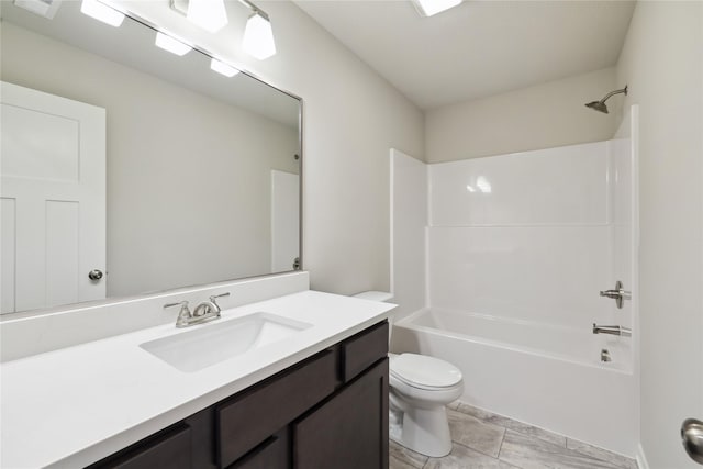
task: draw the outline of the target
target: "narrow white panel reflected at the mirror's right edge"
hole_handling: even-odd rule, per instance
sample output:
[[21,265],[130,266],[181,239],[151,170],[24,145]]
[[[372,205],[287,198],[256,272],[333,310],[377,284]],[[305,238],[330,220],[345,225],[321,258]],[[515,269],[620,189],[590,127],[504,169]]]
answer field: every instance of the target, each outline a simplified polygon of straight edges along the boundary
[[271,271],[293,270],[300,256],[300,177],[271,169]]

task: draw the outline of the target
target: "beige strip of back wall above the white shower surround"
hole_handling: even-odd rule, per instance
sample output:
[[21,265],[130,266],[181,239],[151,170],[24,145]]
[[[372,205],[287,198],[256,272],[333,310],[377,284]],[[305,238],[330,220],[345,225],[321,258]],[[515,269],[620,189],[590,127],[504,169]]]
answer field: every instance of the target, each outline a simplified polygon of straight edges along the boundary
[[609,139],[615,116],[584,104],[622,86],[616,83],[615,69],[605,68],[429,110],[426,160],[451,161]]

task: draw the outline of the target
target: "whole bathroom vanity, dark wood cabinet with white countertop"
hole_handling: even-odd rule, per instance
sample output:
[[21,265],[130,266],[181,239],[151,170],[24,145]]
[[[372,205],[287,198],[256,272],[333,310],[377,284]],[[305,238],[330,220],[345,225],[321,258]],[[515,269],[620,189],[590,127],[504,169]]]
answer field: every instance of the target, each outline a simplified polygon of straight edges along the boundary
[[[2,467],[387,468],[392,308],[306,290],[5,361]],[[144,347],[261,314],[306,327],[189,370]]]

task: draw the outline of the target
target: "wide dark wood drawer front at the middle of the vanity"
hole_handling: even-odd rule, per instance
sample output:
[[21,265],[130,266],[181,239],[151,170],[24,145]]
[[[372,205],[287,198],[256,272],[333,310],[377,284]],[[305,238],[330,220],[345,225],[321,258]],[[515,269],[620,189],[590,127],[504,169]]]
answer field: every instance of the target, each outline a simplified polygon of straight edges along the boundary
[[215,409],[217,461],[226,467],[332,394],[336,364],[332,351],[275,376]]

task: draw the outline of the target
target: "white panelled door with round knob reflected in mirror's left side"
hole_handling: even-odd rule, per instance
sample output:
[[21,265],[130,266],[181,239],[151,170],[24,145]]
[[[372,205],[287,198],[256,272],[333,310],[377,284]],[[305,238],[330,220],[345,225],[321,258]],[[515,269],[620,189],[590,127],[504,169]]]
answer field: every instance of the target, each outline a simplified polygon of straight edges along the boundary
[[105,298],[105,110],[0,87],[1,312]]

